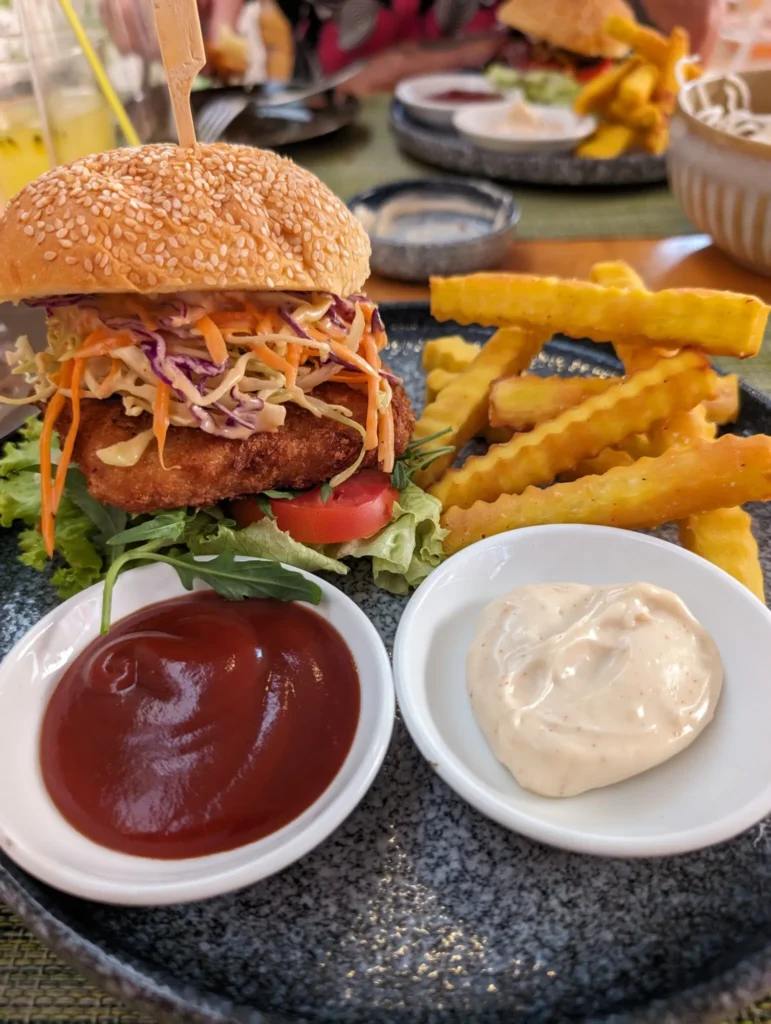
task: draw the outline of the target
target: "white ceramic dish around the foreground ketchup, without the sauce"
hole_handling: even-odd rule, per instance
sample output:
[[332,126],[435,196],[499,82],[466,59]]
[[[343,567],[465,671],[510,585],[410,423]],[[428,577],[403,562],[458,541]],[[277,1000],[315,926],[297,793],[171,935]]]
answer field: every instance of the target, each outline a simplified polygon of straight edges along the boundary
[[[380,768],[391,736],[394,696],[388,655],[375,627],[349,597],[313,579],[323,591],[315,610],[348,644],[361,682],[361,711],[350,752],[314,804],[256,843],[185,860],[157,860],[109,850],[61,817],[40,772],[40,725],[62,671],[98,634],[102,592],[98,584],[54,608],[0,666],[3,852],[31,874],[75,896],[104,903],[156,905],[204,899],[251,885],[287,867],[326,839],[361,800]],[[169,566],[133,569],[118,581],[113,618],[184,593]]]

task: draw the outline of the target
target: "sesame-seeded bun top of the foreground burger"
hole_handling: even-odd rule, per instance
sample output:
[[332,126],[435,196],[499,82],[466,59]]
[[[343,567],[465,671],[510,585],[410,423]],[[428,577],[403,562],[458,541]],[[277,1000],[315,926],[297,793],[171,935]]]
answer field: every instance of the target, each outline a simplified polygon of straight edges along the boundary
[[142,145],[57,167],[0,218],[0,301],[97,292],[349,295],[370,241],[309,171],[245,145]]

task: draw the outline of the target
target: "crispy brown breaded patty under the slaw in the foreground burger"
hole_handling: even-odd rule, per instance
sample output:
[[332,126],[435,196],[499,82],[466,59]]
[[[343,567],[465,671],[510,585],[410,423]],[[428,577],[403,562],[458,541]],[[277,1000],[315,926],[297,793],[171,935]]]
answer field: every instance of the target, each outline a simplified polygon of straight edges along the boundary
[[[325,401],[349,409],[363,425],[367,395],[344,384],[329,382],[314,388]],[[149,416],[129,417],[118,398],[83,401],[82,419],[73,461],[85,474],[88,489],[98,501],[127,512],[203,506],[260,490],[300,490],[328,480],[349,466],[360,452],[361,438],[350,427],[315,417],[299,406],[287,404],[283,427],[254,434],[248,440],[213,437],[195,427],[171,427],[163,469],[157,446],[151,444],[135,466],[106,466],[99,449],[129,440],[152,426]],[[400,455],[410,440],[415,416],[400,385],[393,388],[394,443]],[[68,409],[57,421],[59,433],[70,423]],[[374,466],[377,452],[368,452],[363,466]]]

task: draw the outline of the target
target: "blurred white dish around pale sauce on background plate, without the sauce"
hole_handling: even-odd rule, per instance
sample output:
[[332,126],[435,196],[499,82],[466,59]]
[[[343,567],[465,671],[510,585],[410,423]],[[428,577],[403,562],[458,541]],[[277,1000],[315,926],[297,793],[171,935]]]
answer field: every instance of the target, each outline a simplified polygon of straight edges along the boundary
[[501,103],[464,106],[454,115],[453,127],[474,145],[482,150],[495,150],[497,153],[569,153],[597,127],[597,120],[593,117],[580,117],[562,106],[528,103],[537,114],[550,123],[559,125],[559,132],[538,137],[518,135],[513,130],[506,135],[498,134],[498,126],[505,120],[511,105],[512,101],[507,99]]

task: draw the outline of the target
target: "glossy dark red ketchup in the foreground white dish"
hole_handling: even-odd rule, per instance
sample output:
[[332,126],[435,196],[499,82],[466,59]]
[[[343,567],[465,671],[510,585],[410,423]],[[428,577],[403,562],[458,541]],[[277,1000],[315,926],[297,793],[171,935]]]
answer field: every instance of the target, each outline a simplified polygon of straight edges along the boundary
[[102,846],[219,853],[275,831],[324,793],[359,700],[353,656],[320,615],[192,594],[121,620],[70,666],[43,719],[43,779],[68,821]]

